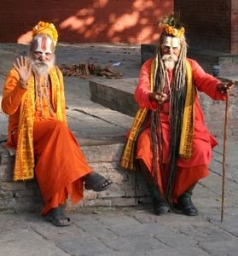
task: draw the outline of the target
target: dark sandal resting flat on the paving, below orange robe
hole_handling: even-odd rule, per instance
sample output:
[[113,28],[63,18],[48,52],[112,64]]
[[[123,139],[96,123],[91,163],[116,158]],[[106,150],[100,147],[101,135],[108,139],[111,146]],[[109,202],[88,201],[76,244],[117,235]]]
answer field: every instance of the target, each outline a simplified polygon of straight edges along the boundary
[[[64,212],[62,212],[61,207],[52,208],[44,218],[58,227],[69,226],[71,224],[70,218],[66,217]],[[62,218],[67,218],[67,222],[61,222]]]

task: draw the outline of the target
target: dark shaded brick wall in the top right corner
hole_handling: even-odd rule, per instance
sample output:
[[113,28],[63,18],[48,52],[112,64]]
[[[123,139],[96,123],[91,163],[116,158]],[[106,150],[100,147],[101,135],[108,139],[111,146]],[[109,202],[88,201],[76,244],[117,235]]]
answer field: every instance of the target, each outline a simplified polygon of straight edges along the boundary
[[190,48],[238,54],[237,0],[175,0],[174,9],[187,28]]

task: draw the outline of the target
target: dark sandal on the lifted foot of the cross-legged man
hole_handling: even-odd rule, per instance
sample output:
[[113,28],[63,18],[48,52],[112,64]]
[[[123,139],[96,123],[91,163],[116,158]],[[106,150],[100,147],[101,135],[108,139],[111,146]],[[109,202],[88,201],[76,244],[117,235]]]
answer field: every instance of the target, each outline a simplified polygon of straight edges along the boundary
[[107,182],[108,178],[103,177],[102,175],[95,173],[90,177],[89,183],[84,184],[84,189],[94,190],[96,192],[104,191],[113,186],[113,182],[108,183],[106,186],[102,187],[102,184]]

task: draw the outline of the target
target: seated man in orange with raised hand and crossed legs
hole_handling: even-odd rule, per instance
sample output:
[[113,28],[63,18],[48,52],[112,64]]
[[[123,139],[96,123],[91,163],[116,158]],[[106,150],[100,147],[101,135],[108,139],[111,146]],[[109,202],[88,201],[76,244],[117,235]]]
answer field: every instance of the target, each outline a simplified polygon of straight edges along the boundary
[[59,204],[67,195],[76,204],[84,188],[102,191],[113,182],[91,170],[67,128],[63,76],[55,66],[55,26],[40,21],[32,37],[28,57],[16,60],[3,88],[2,108],[9,114],[6,148],[16,148],[14,180],[35,173],[45,201],[42,215],[65,226],[71,222]]

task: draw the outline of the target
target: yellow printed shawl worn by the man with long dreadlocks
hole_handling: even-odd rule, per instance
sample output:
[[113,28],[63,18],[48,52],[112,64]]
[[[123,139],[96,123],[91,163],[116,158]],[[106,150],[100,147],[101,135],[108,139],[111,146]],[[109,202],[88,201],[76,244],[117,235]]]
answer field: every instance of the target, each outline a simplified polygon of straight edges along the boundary
[[[154,67],[155,59],[151,62],[150,67],[150,91],[154,89]],[[192,76],[191,66],[189,61],[186,61],[186,79],[187,79],[187,93],[185,108],[183,113],[183,129],[181,134],[181,143],[179,148],[180,157],[189,160],[193,155],[193,136],[194,136],[194,113],[195,113],[195,91]],[[136,134],[139,131],[146,114],[147,108],[139,108],[136,117],[131,126],[131,132],[125,145],[125,150],[122,155],[120,165],[125,169],[134,170],[134,149]]]

